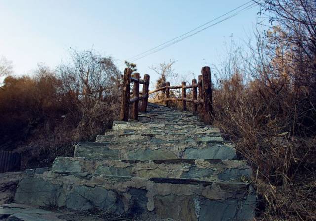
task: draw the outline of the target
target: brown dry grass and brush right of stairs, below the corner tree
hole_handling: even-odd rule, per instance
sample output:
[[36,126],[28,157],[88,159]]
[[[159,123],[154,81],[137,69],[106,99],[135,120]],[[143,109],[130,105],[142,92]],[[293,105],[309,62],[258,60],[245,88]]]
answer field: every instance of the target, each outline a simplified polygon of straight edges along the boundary
[[[273,94],[237,74],[214,90],[214,125],[253,168],[259,220],[316,220],[316,110],[295,91]],[[311,101],[311,100],[310,100]],[[312,104],[312,101],[310,102]],[[309,110],[309,111],[307,111]]]

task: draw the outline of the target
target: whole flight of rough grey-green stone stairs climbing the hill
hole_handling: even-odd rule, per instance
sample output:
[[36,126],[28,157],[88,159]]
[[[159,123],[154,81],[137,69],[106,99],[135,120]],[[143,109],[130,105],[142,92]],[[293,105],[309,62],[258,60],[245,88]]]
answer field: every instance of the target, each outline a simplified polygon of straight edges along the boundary
[[148,105],[139,120],[115,121],[96,142],[51,169],[25,171],[15,203],[98,210],[113,219],[249,221],[251,168],[218,128],[187,111]]

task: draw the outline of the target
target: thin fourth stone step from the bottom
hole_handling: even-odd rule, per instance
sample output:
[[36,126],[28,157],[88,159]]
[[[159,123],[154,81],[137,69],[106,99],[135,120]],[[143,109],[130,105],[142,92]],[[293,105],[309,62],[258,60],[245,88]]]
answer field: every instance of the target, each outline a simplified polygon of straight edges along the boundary
[[207,134],[106,134],[98,135],[96,142],[207,142],[224,141],[220,133]]

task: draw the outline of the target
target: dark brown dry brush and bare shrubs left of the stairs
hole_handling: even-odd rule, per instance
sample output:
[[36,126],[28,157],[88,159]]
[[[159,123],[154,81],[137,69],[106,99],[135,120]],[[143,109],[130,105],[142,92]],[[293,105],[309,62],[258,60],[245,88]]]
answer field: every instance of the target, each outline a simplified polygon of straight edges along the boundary
[[33,77],[6,77],[0,88],[0,149],[21,152],[23,168],[72,155],[73,144],[112,126],[119,111],[117,85],[120,72],[111,58],[94,51],[71,51],[69,63],[55,71],[40,65]]

